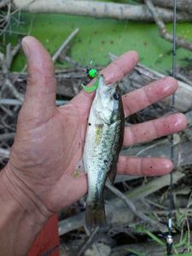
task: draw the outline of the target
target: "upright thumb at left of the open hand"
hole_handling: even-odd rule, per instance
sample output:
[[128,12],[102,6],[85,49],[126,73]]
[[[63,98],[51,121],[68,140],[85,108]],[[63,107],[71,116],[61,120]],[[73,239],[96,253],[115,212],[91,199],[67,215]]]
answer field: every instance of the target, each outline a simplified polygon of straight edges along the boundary
[[46,122],[55,111],[55,70],[50,55],[43,45],[31,36],[22,39],[27,59],[27,85],[22,118],[38,118]]

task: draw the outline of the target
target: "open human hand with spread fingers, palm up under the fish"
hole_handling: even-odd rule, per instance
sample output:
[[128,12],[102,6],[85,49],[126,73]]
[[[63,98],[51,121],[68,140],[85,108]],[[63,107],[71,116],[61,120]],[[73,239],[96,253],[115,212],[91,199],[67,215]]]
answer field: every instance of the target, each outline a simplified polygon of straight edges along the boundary
[[[52,212],[79,200],[87,191],[86,175],[73,177],[73,173],[83,154],[94,93],[82,90],[67,105],[56,108],[54,66],[49,54],[35,38],[24,38],[22,45],[28,63],[26,96],[20,109],[9,163],[3,172],[9,183],[18,186],[12,191],[17,201],[20,201],[21,194],[29,197],[48,218]],[[106,83],[122,79],[137,61],[134,51],[119,56],[102,70]],[[167,77],[132,91],[123,96],[125,116],[170,96],[175,90],[177,81]],[[185,125],[184,115],[174,113],[125,127],[124,145],[166,136],[183,130]],[[148,131],[148,137],[144,136],[145,131]],[[121,174],[155,176],[171,170],[171,160],[119,156],[118,172]]]

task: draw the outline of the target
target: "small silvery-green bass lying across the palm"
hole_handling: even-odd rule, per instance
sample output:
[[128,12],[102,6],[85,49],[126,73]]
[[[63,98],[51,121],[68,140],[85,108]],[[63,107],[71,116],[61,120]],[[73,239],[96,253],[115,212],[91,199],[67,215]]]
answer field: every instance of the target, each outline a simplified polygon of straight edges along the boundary
[[83,163],[88,176],[85,227],[106,225],[103,190],[113,183],[122,148],[125,115],[118,84],[106,85],[102,74],[96,80],[96,96],[90,107],[85,135]]

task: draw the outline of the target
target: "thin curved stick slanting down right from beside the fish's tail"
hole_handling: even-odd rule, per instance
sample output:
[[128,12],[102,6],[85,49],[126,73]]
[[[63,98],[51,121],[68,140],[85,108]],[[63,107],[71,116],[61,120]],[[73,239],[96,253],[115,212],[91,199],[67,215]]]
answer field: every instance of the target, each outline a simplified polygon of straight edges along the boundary
[[109,183],[106,183],[106,187],[113,192],[114,195],[119,196],[119,198],[125,202],[125,204],[131,209],[131,211],[138,217],[141,218],[144,222],[147,222],[148,224],[154,225],[155,227],[160,228],[160,230],[166,229],[166,226],[163,224],[160,224],[158,221],[155,221],[152,218],[148,218],[146,215],[144,215],[142,212],[139,212],[137,208],[134,206],[134,204],[123,194],[119,191],[119,189],[116,189],[114,186],[112,186]]

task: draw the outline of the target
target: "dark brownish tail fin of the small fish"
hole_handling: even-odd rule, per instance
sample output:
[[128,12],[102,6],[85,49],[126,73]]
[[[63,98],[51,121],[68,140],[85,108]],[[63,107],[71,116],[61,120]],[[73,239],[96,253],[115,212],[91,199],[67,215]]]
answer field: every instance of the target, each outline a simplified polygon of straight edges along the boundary
[[87,203],[85,210],[85,227],[88,230],[94,230],[96,227],[106,225],[104,202]]

